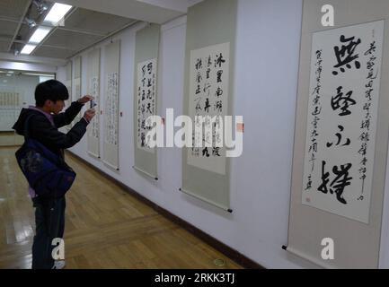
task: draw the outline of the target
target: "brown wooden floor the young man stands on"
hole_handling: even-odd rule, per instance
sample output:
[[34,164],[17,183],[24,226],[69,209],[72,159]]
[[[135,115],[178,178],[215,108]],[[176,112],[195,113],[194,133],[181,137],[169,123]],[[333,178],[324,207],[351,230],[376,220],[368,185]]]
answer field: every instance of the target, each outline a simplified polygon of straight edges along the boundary
[[[34,213],[15,151],[0,147],[0,268],[31,268]],[[83,162],[66,161],[77,172],[66,195],[67,269],[241,268]]]

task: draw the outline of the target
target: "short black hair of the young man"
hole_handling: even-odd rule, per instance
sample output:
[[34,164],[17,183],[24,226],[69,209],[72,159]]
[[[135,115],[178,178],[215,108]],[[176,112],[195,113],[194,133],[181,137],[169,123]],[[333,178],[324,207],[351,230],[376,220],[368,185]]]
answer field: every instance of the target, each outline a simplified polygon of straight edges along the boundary
[[35,88],[35,104],[37,107],[43,107],[46,100],[67,100],[69,99],[69,92],[63,83],[57,80],[49,80],[40,83]]

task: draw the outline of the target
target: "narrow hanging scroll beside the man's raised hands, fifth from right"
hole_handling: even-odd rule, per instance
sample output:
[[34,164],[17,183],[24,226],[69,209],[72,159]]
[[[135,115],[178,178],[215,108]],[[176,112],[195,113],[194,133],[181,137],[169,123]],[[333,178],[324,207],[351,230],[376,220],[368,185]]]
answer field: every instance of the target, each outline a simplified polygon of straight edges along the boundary
[[88,153],[100,158],[100,48],[88,54],[88,94],[93,96],[96,114],[88,126]]

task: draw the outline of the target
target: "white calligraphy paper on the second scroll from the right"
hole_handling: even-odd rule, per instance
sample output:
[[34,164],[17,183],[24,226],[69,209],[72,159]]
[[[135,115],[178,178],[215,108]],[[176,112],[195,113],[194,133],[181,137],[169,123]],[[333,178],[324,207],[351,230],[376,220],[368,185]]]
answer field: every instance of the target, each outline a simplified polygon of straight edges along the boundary
[[[221,175],[225,175],[224,128],[217,119],[222,121],[228,111],[229,65],[229,43],[190,52],[189,110],[195,128],[188,164]],[[217,120],[216,125],[211,124],[212,130],[202,128],[203,124],[196,116],[208,116],[205,126],[213,117]]]

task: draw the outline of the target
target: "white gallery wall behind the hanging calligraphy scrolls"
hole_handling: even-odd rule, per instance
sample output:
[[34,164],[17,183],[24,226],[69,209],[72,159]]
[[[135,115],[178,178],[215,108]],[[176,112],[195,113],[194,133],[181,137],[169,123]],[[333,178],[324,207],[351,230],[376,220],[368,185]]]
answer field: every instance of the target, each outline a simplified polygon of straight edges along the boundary
[[[243,155],[232,163],[233,213],[179,192],[180,149],[158,150],[158,181],[150,181],[132,169],[135,33],[144,24],[130,27],[112,39],[121,41],[119,112],[123,115],[119,117],[119,171],[87,154],[86,136],[71,151],[264,267],[315,268],[281,248],[287,244],[301,22],[302,0],[238,0],[234,115],[243,116],[245,128]],[[161,117],[165,117],[166,109],[174,109],[174,117],[182,113],[185,34],[186,17],[162,26],[158,75]],[[108,43],[109,40],[97,46],[102,48],[102,107],[103,47]],[[82,54],[83,94],[87,86],[87,52]],[[65,83],[65,77],[65,67],[59,67],[57,79]],[[101,131],[102,125],[103,120]],[[387,197],[385,205],[389,206]],[[383,247],[388,246],[385,242],[389,242],[386,228]],[[381,267],[389,267],[386,251],[382,249]]]

